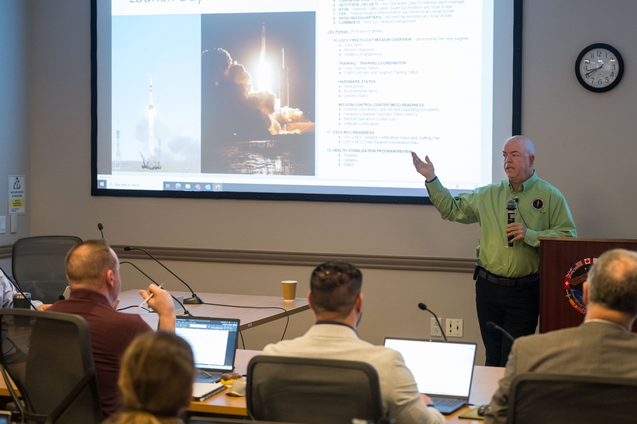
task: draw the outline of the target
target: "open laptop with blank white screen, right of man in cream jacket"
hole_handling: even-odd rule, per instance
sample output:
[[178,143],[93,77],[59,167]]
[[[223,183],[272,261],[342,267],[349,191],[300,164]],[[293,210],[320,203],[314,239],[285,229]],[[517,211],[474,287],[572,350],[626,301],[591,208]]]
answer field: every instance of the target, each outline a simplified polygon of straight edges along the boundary
[[469,403],[475,343],[385,337],[385,347],[403,355],[418,391],[438,411],[450,414]]

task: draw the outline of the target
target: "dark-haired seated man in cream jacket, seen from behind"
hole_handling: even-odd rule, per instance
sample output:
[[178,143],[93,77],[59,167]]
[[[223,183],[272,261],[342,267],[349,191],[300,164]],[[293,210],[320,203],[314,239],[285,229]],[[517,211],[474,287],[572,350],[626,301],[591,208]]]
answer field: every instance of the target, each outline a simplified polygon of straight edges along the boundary
[[359,339],[362,274],[347,262],[327,262],[312,272],[308,302],[316,323],[304,336],[268,344],[264,355],[367,362],[380,381],[383,411],[396,424],[441,424],[445,418],[417,390],[412,372],[397,351]]

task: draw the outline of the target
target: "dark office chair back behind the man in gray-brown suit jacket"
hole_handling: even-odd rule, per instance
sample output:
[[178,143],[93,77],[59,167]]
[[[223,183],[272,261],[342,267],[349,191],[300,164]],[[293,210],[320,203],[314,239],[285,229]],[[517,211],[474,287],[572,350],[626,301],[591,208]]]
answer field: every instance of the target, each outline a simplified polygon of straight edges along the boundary
[[527,372],[513,379],[507,424],[634,423],[637,379]]

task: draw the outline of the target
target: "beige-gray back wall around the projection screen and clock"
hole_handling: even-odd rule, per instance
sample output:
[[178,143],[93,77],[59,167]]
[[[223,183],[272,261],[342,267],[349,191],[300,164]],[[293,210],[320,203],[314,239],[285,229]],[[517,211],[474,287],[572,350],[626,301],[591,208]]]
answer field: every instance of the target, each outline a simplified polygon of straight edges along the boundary
[[[583,24],[593,16],[603,31]],[[522,128],[536,143],[538,174],[562,190],[580,237],[637,238],[636,227],[624,223],[624,211],[637,206],[631,193],[637,108],[629,97],[636,88],[635,16],[637,2],[629,0],[607,0],[603,8],[524,2]],[[31,234],[86,239],[99,236],[96,224],[103,222],[115,244],[475,255],[478,227],[443,222],[431,206],[91,197],[89,2],[34,1],[31,37]],[[573,72],[580,50],[598,41],[615,45],[626,60],[624,80],[606,94],[587,92]],[[154,275],[161,272],[140,263]],[[307,281],[310,274],[305,267],[171,265],[208,292],[277,295],[277,281]],[[146,284],[132,271],[123,274],[125,288]],[[464,339],[480,343],[469,274],[364,270],[364,293],[361,336],[373,343],[389,334],[427,336],[429,316],[415,309],[421,299],[445,318],[464,319]],[[289,336],[302,334],[310,322],[310,313],[293,316]],[[281,322],[248,330],[247,347],[261,348],[280,332]]]

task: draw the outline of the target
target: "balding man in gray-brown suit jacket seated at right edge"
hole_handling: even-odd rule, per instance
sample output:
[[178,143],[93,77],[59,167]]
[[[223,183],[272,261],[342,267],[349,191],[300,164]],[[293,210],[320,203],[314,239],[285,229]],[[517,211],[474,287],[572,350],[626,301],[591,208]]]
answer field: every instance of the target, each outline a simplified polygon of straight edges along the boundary
[[[637,253],[609,250],[583,283],[587,314],[579,327],[520,337],[485,424],[505,423],[513,379],[524,372],[637,378]],[[601,406],[600,406],[601,407]]]

